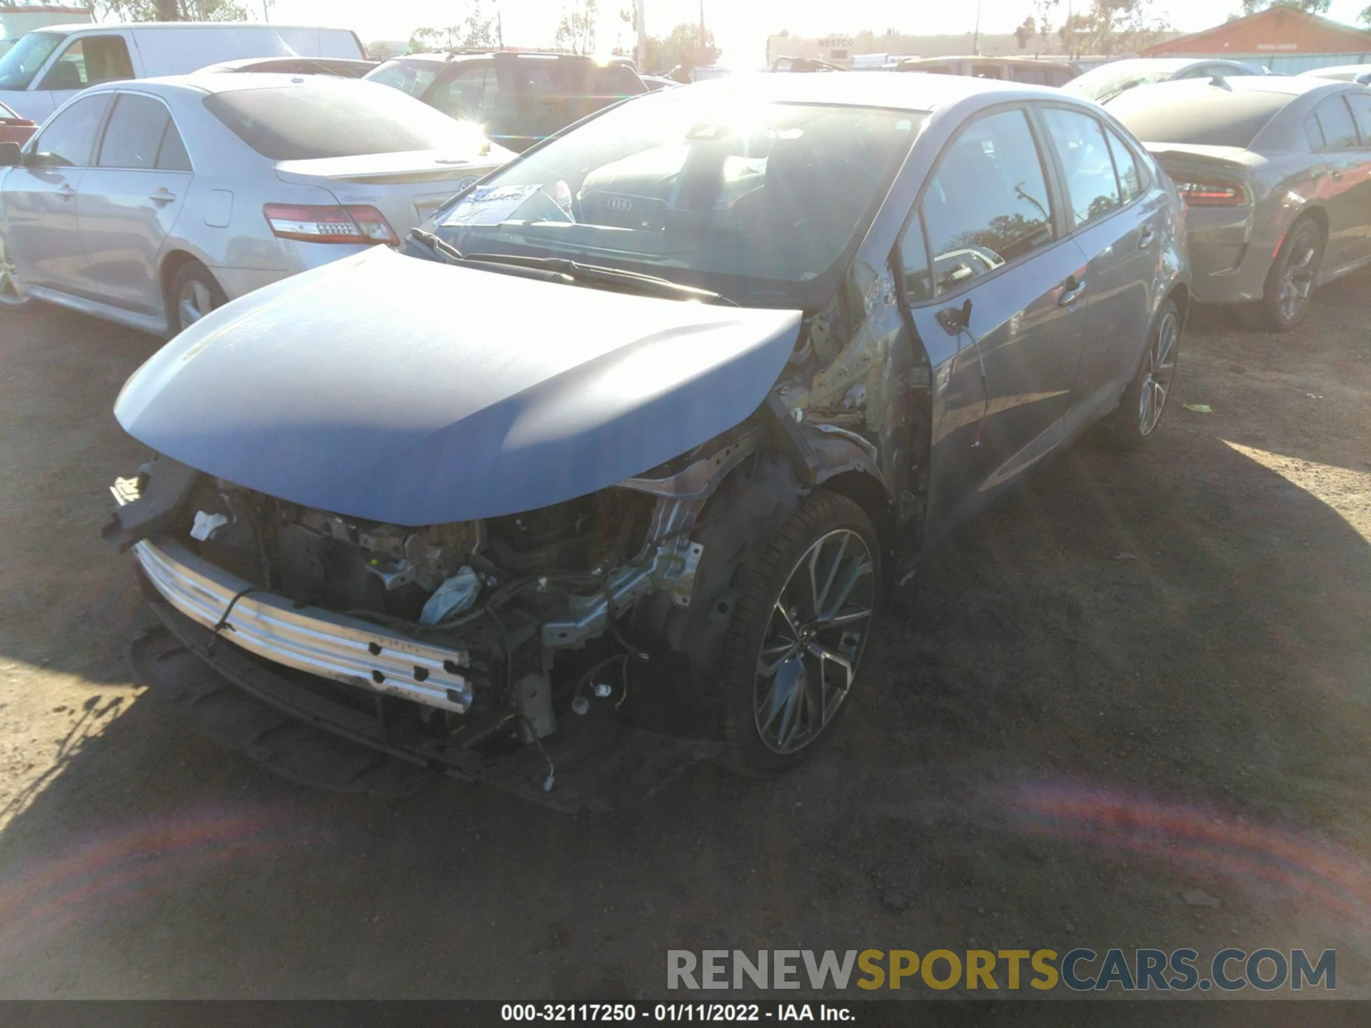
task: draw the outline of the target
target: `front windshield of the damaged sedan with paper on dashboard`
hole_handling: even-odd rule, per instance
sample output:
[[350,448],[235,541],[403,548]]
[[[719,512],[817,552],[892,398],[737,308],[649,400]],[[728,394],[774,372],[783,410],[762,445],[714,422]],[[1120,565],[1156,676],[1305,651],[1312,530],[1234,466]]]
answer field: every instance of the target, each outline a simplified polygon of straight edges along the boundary
[[860,240],[924,115],[653,93],[436,215],[465,254],[565,256],[765,304]]

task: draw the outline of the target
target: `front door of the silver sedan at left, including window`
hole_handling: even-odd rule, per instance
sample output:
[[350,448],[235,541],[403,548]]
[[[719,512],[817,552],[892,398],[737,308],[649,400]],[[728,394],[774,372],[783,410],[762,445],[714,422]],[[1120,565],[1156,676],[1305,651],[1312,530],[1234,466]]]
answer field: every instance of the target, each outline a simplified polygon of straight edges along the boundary
[[7,248],[25,285],[84,292],[77,191],[108,108],[110,95],[96,93],[59,111],[4,178]]

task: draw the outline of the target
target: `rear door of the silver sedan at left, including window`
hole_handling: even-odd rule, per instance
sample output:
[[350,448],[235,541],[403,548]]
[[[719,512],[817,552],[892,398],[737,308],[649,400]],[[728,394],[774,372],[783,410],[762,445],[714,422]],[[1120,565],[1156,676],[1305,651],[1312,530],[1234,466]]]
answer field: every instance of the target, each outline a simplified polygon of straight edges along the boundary
[[191,180],[191,159],[166,103],[118,93],[77,200],[90,291],[129,310],[162,308],[158,255]]

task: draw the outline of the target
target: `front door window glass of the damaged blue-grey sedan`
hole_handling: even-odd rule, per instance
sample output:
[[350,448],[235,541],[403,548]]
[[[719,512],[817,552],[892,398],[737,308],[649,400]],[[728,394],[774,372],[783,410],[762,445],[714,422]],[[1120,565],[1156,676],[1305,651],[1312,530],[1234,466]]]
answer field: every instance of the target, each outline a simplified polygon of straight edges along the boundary
[[1053,241],[1047,180],[1021,110],[962,129],[924,192],[923,217],[939,293]]

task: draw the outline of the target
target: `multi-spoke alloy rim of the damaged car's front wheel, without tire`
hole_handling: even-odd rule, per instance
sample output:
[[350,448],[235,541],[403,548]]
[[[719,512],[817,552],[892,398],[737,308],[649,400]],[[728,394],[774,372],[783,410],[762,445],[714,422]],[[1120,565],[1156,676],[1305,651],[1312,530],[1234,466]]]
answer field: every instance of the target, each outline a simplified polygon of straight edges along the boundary
[[792,754],[823,735],[851,691],[876,603],[866,540],[835,529],[795,562],[776,598],[757,659],[757,733]]

